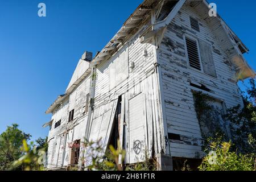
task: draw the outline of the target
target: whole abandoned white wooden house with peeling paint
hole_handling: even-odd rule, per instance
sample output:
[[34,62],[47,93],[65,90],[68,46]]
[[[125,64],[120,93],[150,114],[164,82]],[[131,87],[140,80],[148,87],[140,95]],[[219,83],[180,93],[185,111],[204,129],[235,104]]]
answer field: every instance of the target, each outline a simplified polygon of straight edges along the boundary
[[[119,142],[125,164],[146,154],[161,169],[201,159],[207,128],[193,92],[207,94],[223,112],[243,105],[237,82],[255,76],[246,52],[219,15],[209,16],[206,1],[143,1],[101,52],[82,55],[67,90],[46,111],[48,169],[77,164],[84,139],[101,139],[103,152]],[[218,122],[228,131],[228,121]]]

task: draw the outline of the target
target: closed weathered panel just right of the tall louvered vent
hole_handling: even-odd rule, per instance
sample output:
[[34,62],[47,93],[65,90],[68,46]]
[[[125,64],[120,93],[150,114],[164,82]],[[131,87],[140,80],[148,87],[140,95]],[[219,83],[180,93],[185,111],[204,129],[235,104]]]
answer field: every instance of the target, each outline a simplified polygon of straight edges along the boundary
[[210,44],[204,42],[203,40],[199,40],[199,48],[204,73],[210,76],[217,77],[212,56],[212,46],[210,46]]

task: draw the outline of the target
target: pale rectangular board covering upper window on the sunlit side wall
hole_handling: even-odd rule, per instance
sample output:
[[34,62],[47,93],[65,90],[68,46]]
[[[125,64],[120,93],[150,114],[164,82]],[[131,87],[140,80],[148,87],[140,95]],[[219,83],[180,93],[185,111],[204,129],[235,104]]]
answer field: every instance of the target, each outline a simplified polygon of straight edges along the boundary
[[129,74],[128,47],[126,46],[113,57],[113,63],[109,65],[109,89],[125,81]]

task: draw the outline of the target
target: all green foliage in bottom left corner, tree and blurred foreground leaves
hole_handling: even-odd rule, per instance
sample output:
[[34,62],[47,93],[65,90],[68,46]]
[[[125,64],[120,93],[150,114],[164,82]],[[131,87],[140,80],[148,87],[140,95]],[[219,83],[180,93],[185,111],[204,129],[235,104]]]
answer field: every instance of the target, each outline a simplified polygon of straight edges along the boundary
[[43,168],[43,165],[39,165],[39,163],[42,163],[42,156],[46,156],[44,151],[48,147],[47,138],[39,138],[36,140],[36,144],[28,145],[27,141],[30,138],[31,135],[19,130],[17,124],[7,127],[6,131],[0,135],[0,170],[38,170]]

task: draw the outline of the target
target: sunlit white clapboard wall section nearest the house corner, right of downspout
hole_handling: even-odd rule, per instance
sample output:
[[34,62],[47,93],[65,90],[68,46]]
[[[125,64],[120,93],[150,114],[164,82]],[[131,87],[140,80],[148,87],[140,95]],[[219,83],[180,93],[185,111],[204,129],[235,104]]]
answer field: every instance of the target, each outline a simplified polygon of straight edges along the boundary
[[[155,74],[154,64],[156,63],[155,46],[152,43],[142,44],[140,42],[140,36],[147,26],[148,24],[142,27],[117,53],[117,55],[122,55],[122,60],[119,60],[118,56],[113,56],[110,60],[98,65],[96,70],[95,110],[122,96],[121,115],[123,121],[121,122],[125,124],[122,126],[125,132],[122,132],[124,140],[120,141],[126,150],[126,163],[142,162],[146,154],[152,155],[153,147],[156,153],[164,151],[165,148],[158,76]],[[124,51],[125,53],[123,53]],[[126,63],[121,64],[122,61],[126,61]],[[134,68],[129,68],[127,79],[123,79],[123,77],[121,81],[112,79],[115,74],[113,68],[118,68],[125,73],[127,65],[131,63],[134,64]],[[135,110],[134,107],[136,107]],[[130,113],[131,111],[134,112]],[[97,115],[97,111],[94,111],[95,113]],[[142,120],[137,118],[139,113],[141,113]],[[102,116],[98,114],[97,117]],[[92,125],[95,126],[92,126],[92,130],[96,131],[96,128],[101,125],[98,120],[102,120],[102,118],[96,118],[95,115],[93,118],[94,124]],[[93,134],[92,130],[91,134]],[[97,132],[94,135],[93,138],[97,138]],[[136,151],[136,144],[139,143],[141,146],[141,151],[137,152],[138,154],[134,152],[134,142]],[[155,143],[154,146],[153,143]]]

